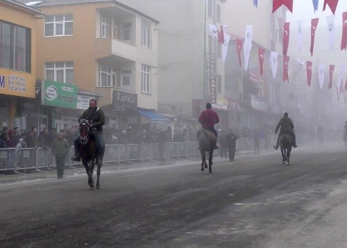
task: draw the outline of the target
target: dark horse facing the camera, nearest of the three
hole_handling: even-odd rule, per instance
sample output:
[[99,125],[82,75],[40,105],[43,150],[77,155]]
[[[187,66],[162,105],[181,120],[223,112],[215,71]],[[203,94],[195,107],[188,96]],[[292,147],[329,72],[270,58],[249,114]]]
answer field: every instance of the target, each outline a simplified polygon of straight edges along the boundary
[[[90,124],[86,119],[81,120],[80,122],[80,153],[82,163],[85,166],[85,170],[88,175],[88,185],[90,185],[90,190],[94,190],[94,180],[93,180],[93,172],[94,165],[96,160],[96,142],[91,137],[90,133]],[[101,165],[98,165],[98,170],[96,171],[97,181],[96,188],[100,188],[100,170]]]

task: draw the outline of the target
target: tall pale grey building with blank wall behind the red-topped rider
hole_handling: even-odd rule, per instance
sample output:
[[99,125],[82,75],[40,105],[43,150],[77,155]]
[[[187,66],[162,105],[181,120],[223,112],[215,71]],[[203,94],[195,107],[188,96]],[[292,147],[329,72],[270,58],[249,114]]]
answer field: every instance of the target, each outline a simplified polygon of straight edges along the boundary
[[[210,24],[221,24],[225,0],[119,1],[160,20],[158,112],[178,117],[178,129],[198,124],[198,115],[206,102],[211,101],[208,82],[211,56],[217,57],[219,85],[224,81],[221,49],[217,40],[210,37],[208,28]],[[219,90],[222,89],[220,86]]]

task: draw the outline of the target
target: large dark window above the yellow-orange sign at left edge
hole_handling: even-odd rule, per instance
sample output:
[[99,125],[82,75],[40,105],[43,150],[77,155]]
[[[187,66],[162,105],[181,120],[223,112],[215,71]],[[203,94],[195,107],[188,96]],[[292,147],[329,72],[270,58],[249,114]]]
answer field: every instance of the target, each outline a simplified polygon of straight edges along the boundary
[[0,67],[31,72],[31,30],[0,21]]

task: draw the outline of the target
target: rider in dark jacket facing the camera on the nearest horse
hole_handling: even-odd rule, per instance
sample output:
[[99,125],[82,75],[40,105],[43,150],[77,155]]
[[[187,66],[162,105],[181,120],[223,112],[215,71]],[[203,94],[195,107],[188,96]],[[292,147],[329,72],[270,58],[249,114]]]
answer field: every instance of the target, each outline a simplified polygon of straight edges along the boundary
[[[105,114],[103,113],[103,110],[97,106],[96,99],[90,99],[89,101],[89,108],[83,112],[81,117],[78,118],[78,122],[81,121],[81,119],[87,119],[90,123],[90,128],[95,129],[95,132],[92,131],[91,133],[94,136],[94,140],[96,142],[96,151],[98,154],[103,154],[103,151],[105,151],[105,140],[103,140],[103,125],[105,124]],[[81,160],[81,154],[80,154],[80,135],[74,140],[74,146],[75,146],[75,155],[71,157],[71,160],[74,161],[80,161]],[[99,156],[96,156],[96,164],[101,165],[102,158],[99,158]]]

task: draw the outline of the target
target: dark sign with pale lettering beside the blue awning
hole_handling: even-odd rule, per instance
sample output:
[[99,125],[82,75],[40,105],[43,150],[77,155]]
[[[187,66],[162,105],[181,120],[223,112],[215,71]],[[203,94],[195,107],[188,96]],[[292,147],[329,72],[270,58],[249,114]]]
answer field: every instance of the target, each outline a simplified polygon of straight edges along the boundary
[[115,110],[137,109],[137,94],[113,90],[112,106]]

